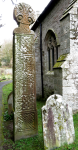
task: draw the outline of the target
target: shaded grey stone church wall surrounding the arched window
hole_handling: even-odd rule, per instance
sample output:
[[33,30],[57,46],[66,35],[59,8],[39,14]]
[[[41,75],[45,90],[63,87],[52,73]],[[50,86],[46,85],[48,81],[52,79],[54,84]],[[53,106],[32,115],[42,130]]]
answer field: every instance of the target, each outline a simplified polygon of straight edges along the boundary
[[[43,79],[44,79],[44,90],[48,92],[48,89],[50,92],[53,91],[54,89],[54,73],[47,72],[47,48],[45,46],[45,36],[48,32],[48,30],[52,30],[55,33],[56,39],[58,39],[57,44],[60,45],[58,47],[58,57],[67,52],[67,49],[63,49],[62,46],[62,41],[61,39],[65,39],[66,35],[63,35],[61,33],[61,23],[60,19],[64,13],[64,11],[67,9],[69,4],[71,3],[72,0],[59,0],[54,9],[46,16],[46,18],[42,22],[42,51],[43,51]],[[69,22],[69,18],[67,18]],[[62,26],[63,28],[63,26]],[[36,83],[37,87],[37,94],[41,95],[41,74],[40,74],[40,41],[39,41],[39,27],[35,30],[36,35],[38,36],[38,42],[36,43]],[[67,35],[68,37],[69,35]],[[65,41],[66,42],[66,41]],[[68,40],[67,40],[68,42]],[[67,43],[69,44],[69,42]],[[67,45],[68,46],[68,45]],[[68,46],[69,47],[69,46]],[[65,50],[65,51],[64,51]],[[69,52],[69,48],[68,48]]]

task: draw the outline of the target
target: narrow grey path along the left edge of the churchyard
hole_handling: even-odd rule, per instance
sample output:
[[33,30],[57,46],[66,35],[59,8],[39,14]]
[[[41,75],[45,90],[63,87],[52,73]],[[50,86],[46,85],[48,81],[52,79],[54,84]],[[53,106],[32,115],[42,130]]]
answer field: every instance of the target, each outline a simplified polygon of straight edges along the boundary
[[2,135],[3,135],[3,133],[2,133],[2,130],[1,130],[1,124],[2,124],[2,122],[1,122],[1,118],[2,118],[2,87],[4,86],[4,85],[6,85],[6,84],[8,84],[8,83],[11,83],[12,82],[12,80],[9,80],[9,81],[4,81],[4,82],[0,82],[0,150],[2,150]]

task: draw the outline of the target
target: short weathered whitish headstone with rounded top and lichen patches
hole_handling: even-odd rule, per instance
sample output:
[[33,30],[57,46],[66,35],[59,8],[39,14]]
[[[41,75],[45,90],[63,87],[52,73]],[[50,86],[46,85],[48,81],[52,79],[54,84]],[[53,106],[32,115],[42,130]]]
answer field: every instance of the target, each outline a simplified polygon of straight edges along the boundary
[[62,96],[52,95],[42,107],[44,149],[52,150],[75,139],[72,108],[64,104]]

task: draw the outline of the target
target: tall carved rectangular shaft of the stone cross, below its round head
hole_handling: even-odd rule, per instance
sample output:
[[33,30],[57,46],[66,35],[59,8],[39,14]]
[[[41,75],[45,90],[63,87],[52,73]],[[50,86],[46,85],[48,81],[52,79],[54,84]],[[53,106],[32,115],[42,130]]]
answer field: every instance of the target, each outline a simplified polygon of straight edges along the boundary
[[15,140],[37,134],[36,77],[33,40],[33,34],[20,34],[20,36],[19,34],[15,34]]

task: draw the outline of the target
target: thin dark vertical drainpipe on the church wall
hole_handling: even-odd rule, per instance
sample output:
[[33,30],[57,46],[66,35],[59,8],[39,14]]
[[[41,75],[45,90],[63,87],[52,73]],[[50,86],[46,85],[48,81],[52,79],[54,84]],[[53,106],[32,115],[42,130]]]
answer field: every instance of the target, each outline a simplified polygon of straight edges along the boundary
[[40,59],[41,59],[42,98],[44,98],[44,87],[43,87],[43,65],[42,65],[42,23],[40,23]]

